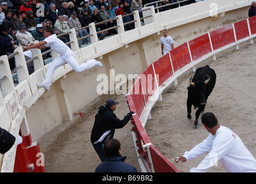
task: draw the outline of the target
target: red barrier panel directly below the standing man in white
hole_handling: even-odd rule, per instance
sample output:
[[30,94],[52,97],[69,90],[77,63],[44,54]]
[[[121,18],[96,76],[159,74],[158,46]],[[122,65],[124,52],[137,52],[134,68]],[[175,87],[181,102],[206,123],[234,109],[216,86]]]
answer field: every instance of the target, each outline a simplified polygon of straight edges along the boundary
[[169,53],[155,61],[153,66],[155,69],[155,74],[158,75],[158,86],[161,86],[162,83],[173,75]]

